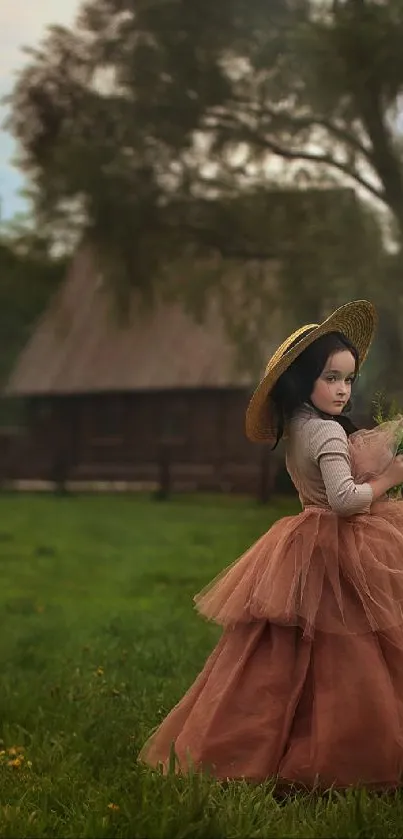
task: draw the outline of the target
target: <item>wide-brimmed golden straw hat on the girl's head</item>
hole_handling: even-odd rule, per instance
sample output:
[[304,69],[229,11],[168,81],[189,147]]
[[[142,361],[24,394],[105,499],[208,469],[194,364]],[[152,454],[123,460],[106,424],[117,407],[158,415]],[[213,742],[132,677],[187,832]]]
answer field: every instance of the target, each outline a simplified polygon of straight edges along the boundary
[[[276,423],[268,397],[282,373],[303,350],[322,335],[341,332],[356,347],[361,366],[367,356],[376,321],[376,311],[372,303],[367,300],[355,300],[336,309],[323,323],[306,324],[293,332],[271,357],[265,375],[249,402],[246,411],[247,437],[255,443],[276,440]],[[301,340],[298,340],[299,338]]]

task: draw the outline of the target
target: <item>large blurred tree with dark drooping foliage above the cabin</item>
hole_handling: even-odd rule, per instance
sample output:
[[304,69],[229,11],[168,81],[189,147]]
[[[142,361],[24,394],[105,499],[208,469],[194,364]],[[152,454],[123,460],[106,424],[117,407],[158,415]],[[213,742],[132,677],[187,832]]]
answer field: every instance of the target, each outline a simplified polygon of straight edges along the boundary
[[[150,291],[184,251],[280,256],[280,290],[292,303],[309,286],[308,308],[327,281],[334,294],[344,272],[345,299],[378,266],[371,292],[387,302],[387,287],[398,331],[399,272],[379,282],[371,214],[335,202],[325,229],[320,202],[285,216],[280,202],[279,235],[270,190],[353,186],[392,220],[400,252],[402,36],[400,0],[89,0],[31,53],[12,96],[40,224],[85,229],[123,295]],[[232,200],[257,186],[259,218]]]

